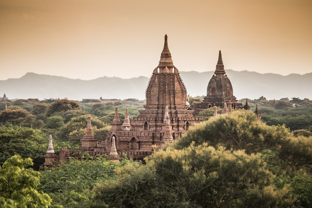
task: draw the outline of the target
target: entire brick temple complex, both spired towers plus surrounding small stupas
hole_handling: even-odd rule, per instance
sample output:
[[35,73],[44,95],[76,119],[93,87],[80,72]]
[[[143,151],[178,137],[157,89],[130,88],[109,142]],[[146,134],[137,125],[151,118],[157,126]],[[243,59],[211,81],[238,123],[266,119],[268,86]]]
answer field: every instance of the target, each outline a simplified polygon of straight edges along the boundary
[[[63,148],[59,156],[54,154],[50,135],[48,151],[44,156],[45,162],[40,169],[44,166],[51,167],[54,162],[67,160],[68,157],[77,157],[79,152],[86,152],[91,156],[107,155],[113,161],[119,161],[124,155],[143,160],[153,154],[154,150],[161,149],[165,143],[181,137],[190,126],[201,122],[197,115],[204,109],[213,107],[214,117],[218,116],[217,107],[223,109],[222,114],[230,114],[232,109],[250,109],[247,100],[243,107],[233,95],[232,84],[225,74],[221,51],[216,70],[208,83],[207,96],[202,103],[192,108],[188,101],[186,88],[178,69],[173,65],[165,35],[158,66],[153,70],[146,89],[145,109],[139,110],[139,116],[130,119],[126,109],[125,119],[121,121],[116,106],[111,131],[103,138],[94,138],[89,115],[81,147],[73,151]],[[258,106],[255,113],[261,120]]]

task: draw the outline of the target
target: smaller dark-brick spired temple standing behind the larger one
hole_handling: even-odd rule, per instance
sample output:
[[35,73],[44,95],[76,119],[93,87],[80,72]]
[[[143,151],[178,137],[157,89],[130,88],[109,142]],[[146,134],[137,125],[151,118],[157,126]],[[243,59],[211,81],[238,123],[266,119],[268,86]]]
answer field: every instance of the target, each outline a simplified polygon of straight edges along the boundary
[[213,106],[223,108],[224,103],[227,103],[227,105],[230,103],[231,109],[234,110],[243,108],[243,105],[238,103],[236,97],[233,95],[233,87],[224,70],[220,50],[216,70],[207,86],[207,95],[204,97],[202,103],[194,106],[195,112],[199,113],[200,111]]

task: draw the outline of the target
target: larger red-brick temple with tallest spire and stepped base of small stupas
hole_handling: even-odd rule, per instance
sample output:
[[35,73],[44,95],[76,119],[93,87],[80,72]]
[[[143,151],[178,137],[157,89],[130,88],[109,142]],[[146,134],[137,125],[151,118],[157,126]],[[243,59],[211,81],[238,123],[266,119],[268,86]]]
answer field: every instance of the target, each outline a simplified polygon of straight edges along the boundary
[[178,139],[190,126],[201,121],[188,108],[187,100],[186,88],[178,69],[173,65],[165,35],[159,64],[153,70],[146,89],[145,110],[140,110],[140,115],[130,120],[127,109],[122,122],[116,106],[111,131],[99,139],[94,139],[88,117],[86,135],[81,139],[82,145],[77,151],[110,157],[115,157],[116,153],[120,157],[126,154],[134,159],[143,159],[151,155],[153,150],[163,147],[165,142]]

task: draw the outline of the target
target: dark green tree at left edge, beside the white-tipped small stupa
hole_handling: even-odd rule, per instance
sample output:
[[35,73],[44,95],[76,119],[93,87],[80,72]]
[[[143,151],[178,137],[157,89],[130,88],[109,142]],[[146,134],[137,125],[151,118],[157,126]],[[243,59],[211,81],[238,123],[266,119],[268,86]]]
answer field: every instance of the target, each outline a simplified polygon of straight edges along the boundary
[[44,162],[48,136],[40,130],[20,127],[12,124],[0,125],[0,164],[5,160],[20,155],[34,160],[34,169]]

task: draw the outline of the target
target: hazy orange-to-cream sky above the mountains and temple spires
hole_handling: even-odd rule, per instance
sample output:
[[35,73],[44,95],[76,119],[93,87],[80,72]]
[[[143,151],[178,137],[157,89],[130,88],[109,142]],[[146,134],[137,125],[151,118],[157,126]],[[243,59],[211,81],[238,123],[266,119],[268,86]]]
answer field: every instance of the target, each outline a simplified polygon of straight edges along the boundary
[[312,0],[0,0],[0,80],[180,71],[312,72]]

